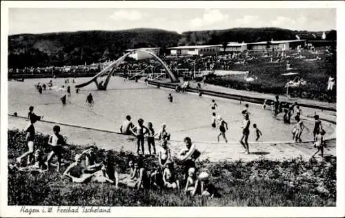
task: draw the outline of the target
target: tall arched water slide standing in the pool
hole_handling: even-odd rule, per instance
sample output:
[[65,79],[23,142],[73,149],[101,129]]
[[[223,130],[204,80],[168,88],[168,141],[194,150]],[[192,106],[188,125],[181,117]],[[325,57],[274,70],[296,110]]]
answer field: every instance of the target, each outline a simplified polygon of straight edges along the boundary
[[[169,70],[168,66],[166,66],[166,63],[164,63],[159,57],[157,57],[156,54],[153,54],[152,52],[148,51],[148,50],[135,50],[135,51],[140,51],[140,52],[146,52],[147,54],[150,54],[152,57],[154,57],[155,59],[157,59],[157,61],[159,61],[159,63],[161,63],[161,65],[165,68],[166,72],[168,72],[169,77],[171,79],[172,82],[177,82],[178,79],[177,77],[175,77],[175,75],[171,72],[171,70]],[[126,59],[126,57],[129,54],[132,54],[133,52],[127,52],[126,54],[124,54],[122,57],[120,57],[119,59],[117,59],[114,63],[110,64],[108,67],[104,68],[103,70],[101,70],[101,72],[97,73],[97,75],[95,75],[95,77],[92,77],[92,79],[90,79],[89,81],[85,82],[85,83],[81,83],[77,86],[75,86],[75,88],[82,88],[84,86],[88,86],[90,83],[95,82],[96,86],[99,90],[106,90],[106,86],[108,86],[108,82],[110,81],[110,77],[113,74],[113,71],[117,68],[117,66],[119,66],[120,63],[122,63],[124,61],[124,59]],[[110,72],[108,72],[108,70],[110,70]],[[101,77],[103,74],[105,74],[106,72],[108,72],[106,81],[101,85],[99,83],[97,83],[97,78]]]

